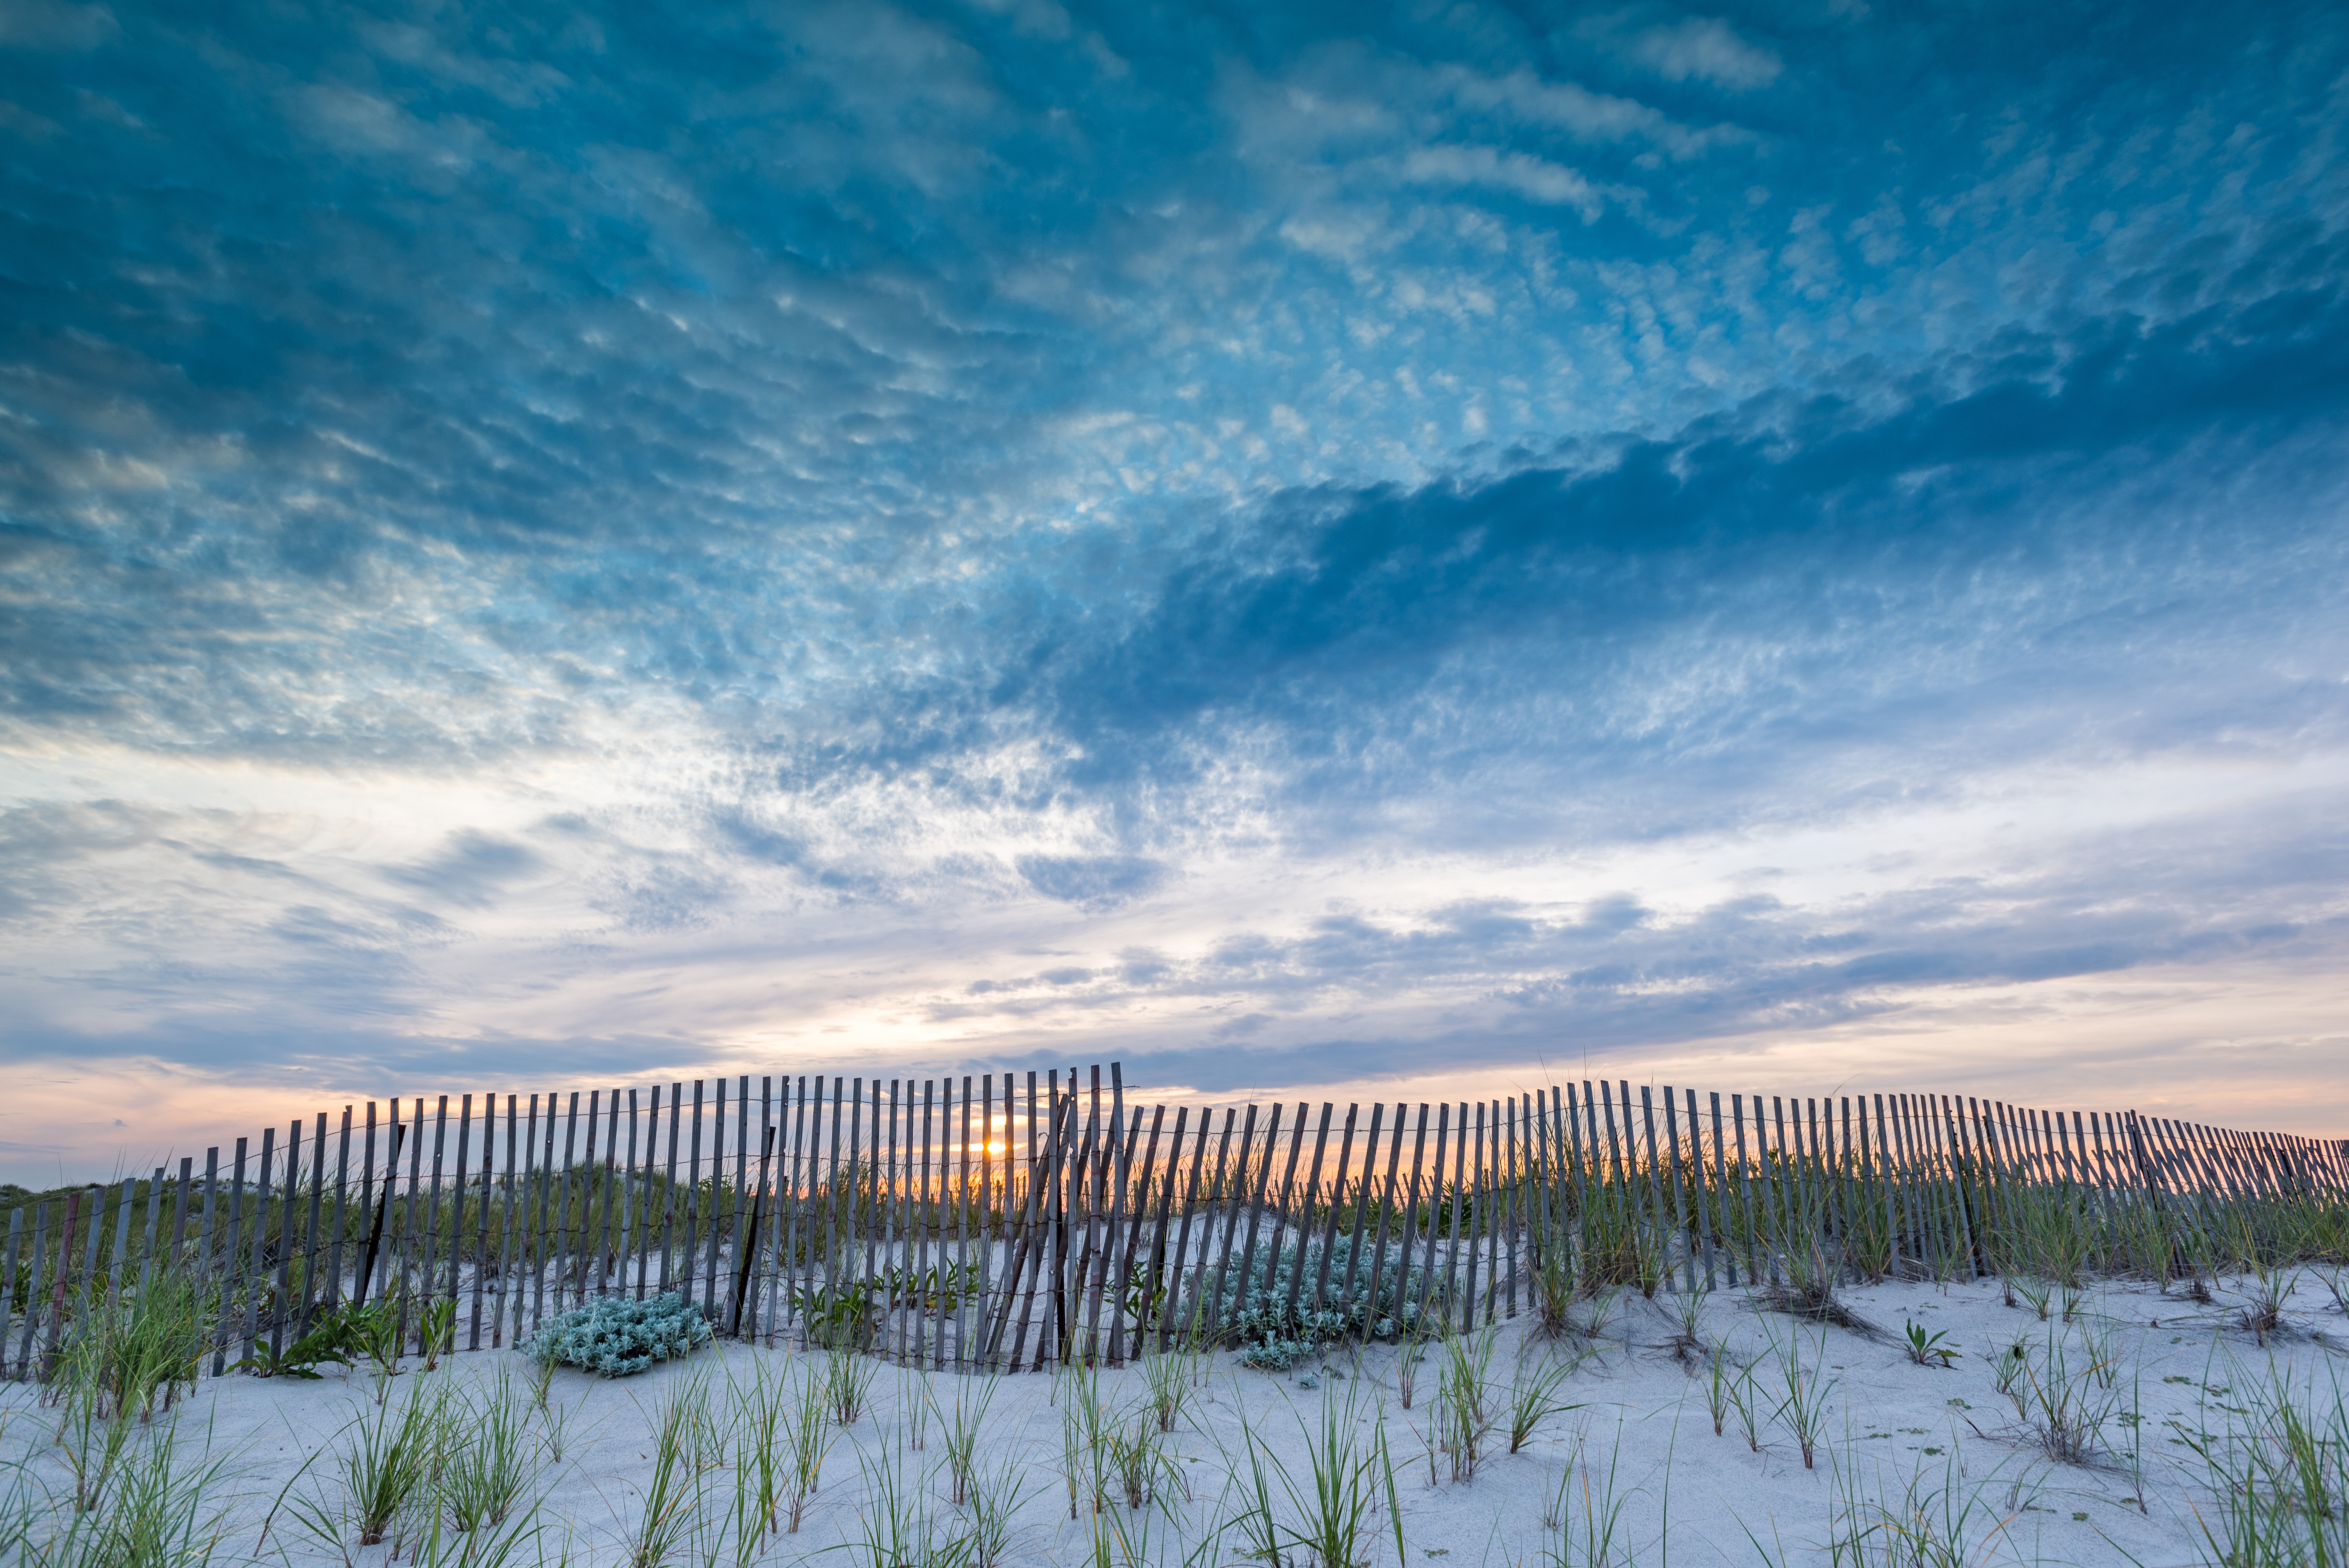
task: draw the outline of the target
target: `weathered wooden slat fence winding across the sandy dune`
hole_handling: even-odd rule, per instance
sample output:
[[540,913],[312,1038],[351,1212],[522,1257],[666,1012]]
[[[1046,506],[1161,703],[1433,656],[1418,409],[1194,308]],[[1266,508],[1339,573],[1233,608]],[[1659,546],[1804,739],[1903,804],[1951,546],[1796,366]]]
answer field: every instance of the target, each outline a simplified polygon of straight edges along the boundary
[[[1092,1068],[369,1101],[9,1214],[0,1376],[183,1270],[209,1371],[345,1305],[418,1354],[679,1293],[930,1366],[1428,1333],[1576,1291],[2213,1272],[2335,1256],[2349,1143],[1947,1094],[1628,1082],[1440,1106],[1128,1106]],[[2330,1251],[2328,1251],[2330,1249]]]

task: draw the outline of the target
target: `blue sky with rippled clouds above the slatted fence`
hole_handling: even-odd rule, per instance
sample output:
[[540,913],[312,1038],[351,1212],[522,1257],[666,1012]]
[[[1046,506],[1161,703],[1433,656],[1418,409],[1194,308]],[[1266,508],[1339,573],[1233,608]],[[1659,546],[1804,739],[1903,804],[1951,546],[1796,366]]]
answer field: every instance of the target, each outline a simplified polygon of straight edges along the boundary
[[1123,1061],[2349,1134],[2330,5],[0,5],[0,1178]]

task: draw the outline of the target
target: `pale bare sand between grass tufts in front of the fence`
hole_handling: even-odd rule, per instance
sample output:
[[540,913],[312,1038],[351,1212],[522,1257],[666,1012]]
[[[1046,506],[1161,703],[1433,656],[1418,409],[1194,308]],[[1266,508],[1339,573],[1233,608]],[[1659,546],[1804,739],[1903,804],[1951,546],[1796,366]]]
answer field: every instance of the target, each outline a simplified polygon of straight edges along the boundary
[[[1828,1540],[1877,1519],[1870,1502],[1919,1502],[1936,1519],[1961,1516],[1959,1561],[2015,1563],[2140,1563],[2166,1568],[2208,1561],[2199,1516],[2210,1514],[2203,1462],[2189,1439],[2225,1434],[2250,1420],[2260,1390],[2279,1378],[2302,1387],[2318,1413],[2337,1408],[2340,1352],[2349,1350],[2349,1319],[2316,1277],[2302,1277],[2288,1300],[2288,1331],[2260,1345],[2239,1326],[2236,1305],[2248,1282],[2222,1289],[2215,1305],[2194,1305],[2142,1284],[2091,1289],[2074,1324],[2041,1322],[2025,1303],[2001,1303],[1997,1282],[1936,1286],[1884,1284],[1846,1289],[1853,1312],[1882,1329],[1877,1338],[1837,1326],[1809,1326],[1757,1310],[1736,1291],[1705,1298],[1701,1333],[1722,1340],[1736,1366],[1752,1368],[1759,1408],[1755,1451],[1738,1413],[1715,1434],[1708,1376],[1701,1357],[1675,1357],[1675,1303],[1630,1298],[1595,1338],[1541,1340],[1525,1317],[1503,1322],[1492,1357],[1494,1415],[1501,1432],[1468,1481],[1454,1481],[1445,1455],[1431,1458],[1438,1357],[1416,1373],[1412,1408],[1398,1390],[1398,1350],[1346,1350],[1287,1373],[1243,1368],[1229,1352],[1205,1359],[1179,1430],[1167,1439],[1172,1474],[1167,1500],[1144,1514],[1123,1514],[1128,1540],[1149,1533],[1135,1556],[1163,1563],[1236,1563],[1247,1547],[1238,1533],[1217,1540],[1217,1526],[1243,1502],[1250,1476],[1243,1420],[1266,1441],[1290,1479],[1306,1488],[1308,1437],[1327,1401],[1346,1425],[1369,1437],[1384,1425],[1398,1469],[1405,1563],[1409,1568],[1515,1566],[1590,1561],[1593,1521],[1616,1519],[1609,1561],[1626,1563],[1828,1563]],[[1919,1322],[1957,1350],[1952,1366],[1919,1366],[1905,1354],[1905,1324]],[[2048,1336],[2074,1368],[2091,1343],[2114,1357],[2112,1387],[2084,1383],[2091,1404],[2105,1406],[2098,1455],[2086,1462],[2051,1460],[2032,1430],[1997,1390],[1992,1357],[2015,1340],[2039,1357]],[[1823,1392],[1823,1439],[1816,1467],[1804,1467],[1790,1422],[1771,1415],[1785,1399],[1785,1354],[1797,1345]],[[1520,1453],[1508,1453],[1508,1385],[1546,1359],[1579,1357],[1562,1397],[1579,1408],[1548,1418]],[[681,1378],[705,1376],[714,1408],[723,1411],[726,1380],[747,1380],[759,1361],[806,1364],[803,1352],[721,1345],[684,1364],[604,1383],[561,1371],[552,1399],[566,1441],[554,1460],[545,1444],[536,1491],[550,1523],[524,1561],[568,1554],[571,1563],[625,1563],[625,1540],[644,1512],[653,1444],[653,1411]],[[479,1390],[503,1368],[517,1383],[529,1364],[512,1352],[458,1354],[435,1373],[406,1364],[392,1399],[428,1380]],[[1146,1385],[1139,1371],[1099,1376],[1113,1404],[1135,1404]],[[930,1376],[881,1366],[874,1408],[836,1430],[822,1486],[799,1533],[766,1540],[756,1561],[817,1559],[862,1540],[871,1514],[871,1465],[890,1446],[907,1472],[926,1476],[930,1512],[951,1533],[963,1514],[947,1502],[944,1415],[933,1413],[911,1448],[914,1413],[928,1401],[951,1411],[977,1399],[984,1380]],[[1022,1373],[991,1390],[982,1467],[1010,1465],[1034,1495],[1019,1512],[1005,1561],[1092,1561],[1090,1505],[1071,1521],[1062,1460],[1066,1378]],[[204,1380],[179,1406],[176,1441],[183,1451],[226,1458],[216,1491],[223,1509],[214,1561],[381,1563],[385,1547],[357,1549],[322,1540],[284,1500],[310,1498],[334,1507],[336,1453],[350,1422],[369,1411],[366,1373],[329,1373],[324,1383],[218,1378]],[[23,1465],[52,1488],[70,1493],[70,1476],[54,1446],[54,1411],[35,1390],[0,1392],[0,1460]],[[533,1415],[533,1422],[543,1418]],[[308,1469],[303,1469],[310,1460]],[[1564,1483],[1564,1486],[1562,1486]],[[723,1476],[712,1495],[726,1493]],[[1189,1495],[1184,1495],[1189,1493]],[[1278,1483],[1276,1483],[1278,1495]],[[1564,1505],[1560,1502],[1564,1498]],[[1905,1505],[1903,1505],[1905,1507]],[[1548,1521],[1564,1516],[1567,1528]],[[263,1523],[268,1528],[263,1530]],[[1564,1559],[1555,1554],[1567,1552]],[[1393,1528],[1381,1516],[1365,1545],[1365,1561],[1395,1561]],[[733,1552],[726,1554],[733,1561]],[[677,1561],[691,1561],[691,1545]],[[841,1561],[827,1554],[822,1561]],[[850,1561],[871,1561],[850,1554]],[[1125,1561],[1116,1554],[1113,1561]],[[1299,1559],[1301,1561],[1301,1559]],[[1886,1561],[1870,1552],[1865,1561]]]

